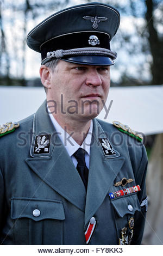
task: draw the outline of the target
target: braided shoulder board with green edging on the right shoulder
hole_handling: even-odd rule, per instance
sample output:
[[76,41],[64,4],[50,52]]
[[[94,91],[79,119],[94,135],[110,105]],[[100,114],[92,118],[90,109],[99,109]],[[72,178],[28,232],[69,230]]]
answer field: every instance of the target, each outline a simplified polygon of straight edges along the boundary
[[128,125],[122,124],[119,121],[113,121],[112,123],[117,127],[117,129],[119,131],[124,132],[124,133],[128,134],[129,136],[134,137],[138,141],[142,142],[143,136],[142,136],[141,132],[134,131]]

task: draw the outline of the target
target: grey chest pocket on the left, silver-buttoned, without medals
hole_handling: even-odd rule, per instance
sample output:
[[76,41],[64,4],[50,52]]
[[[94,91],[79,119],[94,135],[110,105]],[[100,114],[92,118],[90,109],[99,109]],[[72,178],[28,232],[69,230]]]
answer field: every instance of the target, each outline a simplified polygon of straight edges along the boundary
[[62,245],[64,206],[58,200],[12,198],[16,245]]

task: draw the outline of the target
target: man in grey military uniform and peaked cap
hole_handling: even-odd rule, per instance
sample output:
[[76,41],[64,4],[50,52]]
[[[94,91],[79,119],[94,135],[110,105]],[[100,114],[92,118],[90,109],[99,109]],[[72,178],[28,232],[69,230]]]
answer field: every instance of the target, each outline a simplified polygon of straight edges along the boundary
[[116,58],[110,40],[119,24],[115,8],[90,3],[60,11],[28,34],[28,46],[41,52],[47,101],[19,127],[1,126],[1,244],[141,243],[145,148],[128,126],[96,119],[109,92]]

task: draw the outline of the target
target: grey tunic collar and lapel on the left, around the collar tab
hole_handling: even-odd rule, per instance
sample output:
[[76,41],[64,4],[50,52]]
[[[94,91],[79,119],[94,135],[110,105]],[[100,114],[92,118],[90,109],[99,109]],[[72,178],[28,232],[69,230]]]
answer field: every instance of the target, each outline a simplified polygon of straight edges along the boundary
[[[35,136],[51,135],[49,153],[35,154]],[[43,182],[53,188],[80,210],[85,210],[86,191],[70,156],[54,130],[46,112],[46,102],[34,116],[33,139],[30,149],[32,157],[26,159],[28,166]]]

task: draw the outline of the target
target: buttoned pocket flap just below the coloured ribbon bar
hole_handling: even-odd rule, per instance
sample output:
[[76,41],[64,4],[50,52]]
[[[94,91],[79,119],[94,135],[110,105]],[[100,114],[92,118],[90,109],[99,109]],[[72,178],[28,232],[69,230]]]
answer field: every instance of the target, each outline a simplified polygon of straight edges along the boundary
[[127,195],[126,197],[118,197],[110,200],[112,206],[121,218],[126,214],[135,214],[135,211],[140,211],[140,203],[136,193]]

